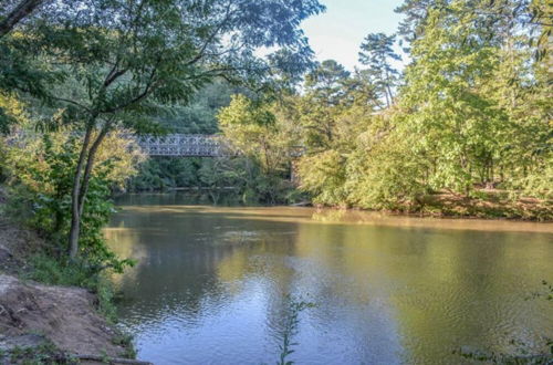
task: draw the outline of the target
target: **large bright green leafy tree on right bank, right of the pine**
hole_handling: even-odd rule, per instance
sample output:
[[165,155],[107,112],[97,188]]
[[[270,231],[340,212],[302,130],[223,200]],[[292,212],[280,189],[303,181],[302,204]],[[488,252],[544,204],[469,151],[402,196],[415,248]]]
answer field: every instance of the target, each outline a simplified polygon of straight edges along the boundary
[[[481,93],[498,62],[495,48],[478,29],[458,27],[468,21],[457,11],[462,7],[430,11],[425,36],[413,42],[401,97],[407,115],[398,131],[418,136],[410,153],[434,166],[431,188],[469,192],[473,171],[495,157],[508,125],[494,101]],[[473,41],[465,42],[468,36]]]

